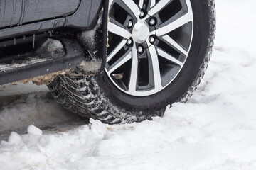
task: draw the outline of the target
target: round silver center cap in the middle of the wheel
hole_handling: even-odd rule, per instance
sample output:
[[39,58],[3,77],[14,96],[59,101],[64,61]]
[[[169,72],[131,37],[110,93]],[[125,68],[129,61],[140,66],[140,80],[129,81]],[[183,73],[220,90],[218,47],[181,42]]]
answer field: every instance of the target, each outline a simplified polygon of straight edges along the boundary
[[132,37],[138,43],[142,43],[149,38],[149,25],[145,21],[138,21],[132,30]]

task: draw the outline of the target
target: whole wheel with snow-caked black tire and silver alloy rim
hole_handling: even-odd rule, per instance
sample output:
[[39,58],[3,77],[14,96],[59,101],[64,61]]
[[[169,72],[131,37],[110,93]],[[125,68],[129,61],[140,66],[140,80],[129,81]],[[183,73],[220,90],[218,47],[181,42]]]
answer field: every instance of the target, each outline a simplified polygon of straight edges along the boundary
[[[114,0],[114,2],[116,1]],[[169,12],[171,13],[170,15],[173,15],[171,17],[168,16],[169,14],[165,15],[162,12],[166,11],[164,8],[161,10],[162,13],[159,12],[156,15],[150,12],[151,1],[149,1],[148,5],[144,4],[143,6],[140,4],[141,1],[136,1],[137,6],[144,8],[142,10],[144,13],[139,13],[142,16],[134,17],[135,19],[131,16],[134,13],[138,13],[138,11],[132,11],[129,8],[129,6],[134,5],[132,2],[135,1],[127,0],[124,2],[117,1],[114,5],[110,4],[110,23],[108,26],[110,33],[108,54],[110,55],[108,56],[105,72],[96,76],[60,75],[48,85],[50,91],[53,92],[53,96],[68,110],[84,117],[99,119],[104,123],[110,124],[150,120],[154,116],[164,115],[167,105],[178,101],[186,102],[193,91],[196,90],[208,67],[215,37],[215,4],[213,0],[174,0],[171,5],[164,6],[167,11],[175,11],[175,13]],[[157,2],[160,4],[164,0]],[[184,3],[186,6],[184,6]],[[180,8],[180,11],[183,12],[186,11],[186,13],[192,12],[192,19],[188,18],[188,23],[169,33],[169,30],[173,28],[165,27],[163,29],[162,27],[169,26],[167,22],[173,22],[170,21],[170,18],[174,18],[180,12],[176,8]],[[191,11],[189,11],[190,8]],[[119,13],[119,11],[122,11],[121,9],[125,9],[124,11],[128,13],[129,17],[124,21],[125,24],[122,28],[132,33],[131,38],[126,37],[129,35],[127,32],[122,32],[121,35],[124,35],[124,37],[114,37],[119,34],[119,30],[112,23],[116,23],[116,21],[122,23],[122,18],[119,17],[122,15],[122,13]],[[154,14],[154,17],[148,16],[151,13]],[[185,16],[185,14],[181,13],[179,15]],[[139,18],[147,18],[146,23],[139,23]],[[151,18],[154,18],[155,22],[151,22]],[[129,21],[132,21],[132,26]],[[160,22],[158,23],[158,21]],[[144,33],[138,34],[135,26],[138,29],[144,29],[148,26],[149,32],[154,34],[150,36],[144,36]],[[167,30],[168,34],[161,35],[164,30]],[[114,31],[117,31],[117,33],[114,33]],[[168,44],[167,42],[171,41],[168,38],[164,39],[166,35],[169,35],[173,40],[175,39],[175,42],[178,41],[178,45],[183,49],[176,46],[174,42],[174,45]],[[150,39],[151,37],[154,40]],[[118,49],[121,43],[124,54],[120,52],[121,50],[117,53],[113,52]],[[142,52],[139,47],[142,47]],[[166,47],[169,48],[167,49]],[[154,49],[157,53],[153,53],[155,52]],[[176,55],[178,57],[173,57],[177,52],[179,52]],[[187,55],[184,55],[186,52]],[[127,57],[127,54],[132,55],[132,57]],[[157,55],[154,56],[154,54]],[[161,56],[159,57],[159,55]],[[145,58],[147,61],[142,62]],[[158,65],[160,65],[160,72],[158,73],[161,74],[161,80],[155,72],[158,70],[157,64],[154,63],[156,58],[158,59]],[[120,61],[122,64],[119,64]],[[139,69],[134,72],[134,68]],[[140,68],[143,69],[141,70]],[[135,78],[132,75],[136,75]],[[148,77],[145,75],[148,75]],[[132,81],[132,79],[135,79],[135,81]],[[159,81],[156,81],[157,79],[161,81],[161,86]],[[127,81],[129,82],[127,83]],[[135,85],[132,82],[136,82]],[[132,86],[134,86],[135,90],[132,89]]]

